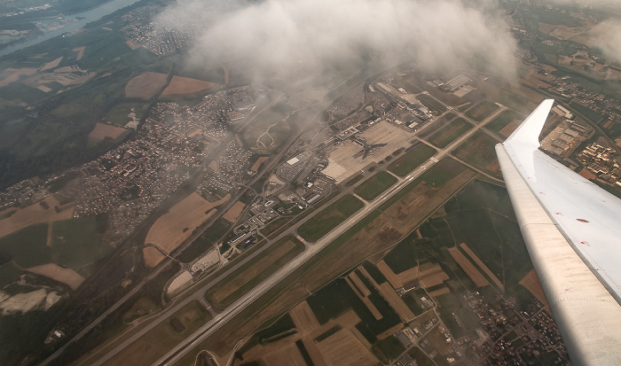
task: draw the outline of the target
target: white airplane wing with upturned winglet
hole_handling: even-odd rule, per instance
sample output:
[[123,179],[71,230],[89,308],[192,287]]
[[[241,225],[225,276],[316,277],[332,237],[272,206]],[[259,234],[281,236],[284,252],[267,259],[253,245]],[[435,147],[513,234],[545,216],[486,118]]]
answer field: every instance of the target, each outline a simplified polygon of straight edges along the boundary
[[621,200],[538,150],[553,104],[542,102],[496,153],[571,361],[621,365]]

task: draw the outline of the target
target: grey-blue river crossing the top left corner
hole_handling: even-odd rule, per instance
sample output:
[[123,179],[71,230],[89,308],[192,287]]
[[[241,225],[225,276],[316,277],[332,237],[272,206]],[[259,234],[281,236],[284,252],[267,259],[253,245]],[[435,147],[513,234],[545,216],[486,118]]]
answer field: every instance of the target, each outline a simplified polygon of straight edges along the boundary
[[33,38],[29,38],[28,41],[23,41],[20,43],[12,44],[11,46],[0,50],[0,57],[11,54],[15,51],[20,51],[25,49],[26,47],[30,47],[32,45],[42,43],[51,38],[58,37],[59,35],[64,35],[65,33],[73,32],[81,27],[84,27],[87,23],[91,21],[95,21],[105,17],[108,14],[112,14],[119,9],[124,8],[125,6],[130,6],[131,4],[138,3],[140,0],[112,0],[107,2],[106,4],[101,4],[100,6],[90,9],[86,12],[76,12],[75,14],[71,14],[71,16],[67,16],[67,19],[77,19],[81,18],[73,23],[67,24],[65,27],[61,27],[56,30],[52,30],[51,32],[47,32],[43,35],[37,35]]

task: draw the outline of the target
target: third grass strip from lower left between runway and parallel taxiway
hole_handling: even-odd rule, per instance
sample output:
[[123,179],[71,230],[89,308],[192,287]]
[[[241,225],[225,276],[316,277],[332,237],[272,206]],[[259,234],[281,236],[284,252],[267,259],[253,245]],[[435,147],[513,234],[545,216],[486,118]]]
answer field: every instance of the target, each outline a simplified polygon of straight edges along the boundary
[[304,222],[297,230],[304,240],[311,243],[316,242],[328,232],[339,226],[341,222],[347,220],[352,214],[356,213],[364,204],[359,199],[351,195],[343,196],[332,205],[327,206],[321,212]]

